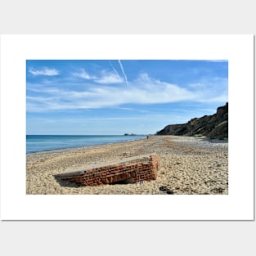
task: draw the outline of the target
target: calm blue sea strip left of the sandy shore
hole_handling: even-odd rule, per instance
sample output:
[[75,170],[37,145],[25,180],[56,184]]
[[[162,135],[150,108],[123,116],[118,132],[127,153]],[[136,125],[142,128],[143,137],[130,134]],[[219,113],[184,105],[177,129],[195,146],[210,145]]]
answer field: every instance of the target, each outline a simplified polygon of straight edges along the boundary
[[27,135],[26,154],[134,141],[145,137],[146,135]]

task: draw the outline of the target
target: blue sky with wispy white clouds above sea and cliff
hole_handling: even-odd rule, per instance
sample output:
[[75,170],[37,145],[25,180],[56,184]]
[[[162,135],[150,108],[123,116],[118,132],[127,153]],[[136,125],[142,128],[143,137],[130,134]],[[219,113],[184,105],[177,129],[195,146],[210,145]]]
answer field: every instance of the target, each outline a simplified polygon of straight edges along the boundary
[[227,96],[227,61],[26,61],[27,134],[154,134]]

